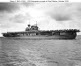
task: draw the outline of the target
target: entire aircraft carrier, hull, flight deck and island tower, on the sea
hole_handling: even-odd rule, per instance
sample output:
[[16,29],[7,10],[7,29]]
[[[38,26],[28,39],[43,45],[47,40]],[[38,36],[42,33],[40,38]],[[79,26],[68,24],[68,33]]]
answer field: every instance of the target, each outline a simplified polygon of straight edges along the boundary
[[16,38],[35,38],[35,39],[75,39],[78,29],[62,29],[62,30],[39,30],[36,25],[30,25],[26,27],[25,31],[21,32],[7,32],[2,33],[4,37],[16,37]]

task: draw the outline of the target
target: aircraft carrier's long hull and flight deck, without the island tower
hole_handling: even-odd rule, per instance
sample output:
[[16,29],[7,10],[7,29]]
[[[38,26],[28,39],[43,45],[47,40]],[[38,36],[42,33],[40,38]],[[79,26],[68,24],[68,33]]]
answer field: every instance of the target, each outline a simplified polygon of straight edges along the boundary
[[75,39],[77,34],[75,30],[64,31],[31,31],[31,32],[8,32],[3,33],[7,38],[22,39]]

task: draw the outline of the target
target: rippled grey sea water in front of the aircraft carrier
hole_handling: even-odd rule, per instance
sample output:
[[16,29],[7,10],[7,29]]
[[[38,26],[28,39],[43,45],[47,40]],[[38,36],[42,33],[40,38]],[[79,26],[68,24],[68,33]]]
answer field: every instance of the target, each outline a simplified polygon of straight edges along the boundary
[[81,66],[81,36],[75,40],[0,38],[0,66]]

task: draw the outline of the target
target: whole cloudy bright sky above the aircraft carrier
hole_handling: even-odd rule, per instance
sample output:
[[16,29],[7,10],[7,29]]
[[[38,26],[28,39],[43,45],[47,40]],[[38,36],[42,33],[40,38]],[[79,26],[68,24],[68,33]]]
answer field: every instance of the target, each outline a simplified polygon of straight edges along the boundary
[[0,36],[3,32],[24,31],[29,23],[36,22],[40,30],[81,30],[80,6],[79,2],[0,3]]

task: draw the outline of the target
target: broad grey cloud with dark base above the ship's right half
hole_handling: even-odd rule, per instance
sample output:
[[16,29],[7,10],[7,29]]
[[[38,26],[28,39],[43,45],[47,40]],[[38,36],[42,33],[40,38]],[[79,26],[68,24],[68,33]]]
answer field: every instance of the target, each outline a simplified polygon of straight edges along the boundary
[[53,4],[46,14],[56,21],[69,21],[78,14],[79,6],[75,3]]

